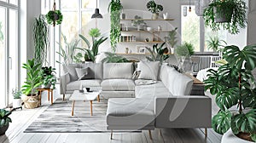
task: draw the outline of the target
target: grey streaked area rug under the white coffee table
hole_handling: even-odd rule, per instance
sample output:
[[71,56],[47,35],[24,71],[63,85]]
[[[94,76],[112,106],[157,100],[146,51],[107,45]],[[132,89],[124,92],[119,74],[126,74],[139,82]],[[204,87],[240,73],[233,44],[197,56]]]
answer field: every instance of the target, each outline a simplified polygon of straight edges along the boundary
[[107,100],[93,101],[93,116],[90,102],[76,101],[71,116],[72,101],[55,100],[24,132],[25,133],[105,133],[107,130]]

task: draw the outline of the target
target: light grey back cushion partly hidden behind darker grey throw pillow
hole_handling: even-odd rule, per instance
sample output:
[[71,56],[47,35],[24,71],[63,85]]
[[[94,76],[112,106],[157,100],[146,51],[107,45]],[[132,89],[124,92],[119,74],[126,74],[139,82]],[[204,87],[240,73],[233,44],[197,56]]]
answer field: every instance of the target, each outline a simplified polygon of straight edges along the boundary
[[87,79],[102,79],[103,78],[103,66],[102,63],[85,63],[83,68],[89,67]]

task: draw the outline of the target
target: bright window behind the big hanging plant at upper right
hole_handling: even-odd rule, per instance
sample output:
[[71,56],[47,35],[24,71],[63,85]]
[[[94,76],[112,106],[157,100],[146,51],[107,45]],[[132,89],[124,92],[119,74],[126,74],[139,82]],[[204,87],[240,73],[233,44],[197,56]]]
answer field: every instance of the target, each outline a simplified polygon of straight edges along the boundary
[[198,54],[211,53],[213,50],[207,48],[207,40],[210,37],[218,37],[225,41],[227,32],[212,31],[209,27],[205,27],[203,17],[195,14],[194,5],[191,5],[191,9],[192,11],[189,12],[189,5],[181,6],[182,42],[192,43]]

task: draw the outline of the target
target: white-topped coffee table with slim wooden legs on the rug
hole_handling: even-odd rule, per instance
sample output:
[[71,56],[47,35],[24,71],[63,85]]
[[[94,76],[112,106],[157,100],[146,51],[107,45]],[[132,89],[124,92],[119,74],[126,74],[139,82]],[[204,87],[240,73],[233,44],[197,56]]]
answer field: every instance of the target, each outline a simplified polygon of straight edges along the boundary
[[80,93],[79,90],[74,90],[69,100],[73,100],[71,116],[73,116],[74,104],[76,100],[90,100],[90,116],[92,116],[92,101],[98,100],[100,102],[101,91],[84,92]]

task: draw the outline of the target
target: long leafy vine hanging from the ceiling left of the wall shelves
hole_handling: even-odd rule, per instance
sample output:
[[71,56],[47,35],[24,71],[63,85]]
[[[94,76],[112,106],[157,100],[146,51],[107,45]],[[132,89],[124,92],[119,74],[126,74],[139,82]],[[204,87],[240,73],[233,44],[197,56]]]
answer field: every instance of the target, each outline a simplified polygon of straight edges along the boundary
[[116,50],[116,45],[121,35],[120,31],[120,14],[123,6],[120,0],[111,0],[108,5],[108,12],[110,12],[110,43],[113,52]]

